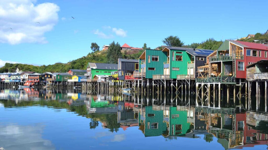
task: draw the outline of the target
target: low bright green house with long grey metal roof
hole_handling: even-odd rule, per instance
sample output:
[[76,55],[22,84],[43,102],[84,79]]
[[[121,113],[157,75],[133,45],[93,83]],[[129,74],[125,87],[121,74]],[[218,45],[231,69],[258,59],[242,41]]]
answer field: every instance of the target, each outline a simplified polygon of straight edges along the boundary
[[87,65],[87,79],[93,79],[95,75],[111,75],[112,72],[118,71],[117,64],[89,62]]

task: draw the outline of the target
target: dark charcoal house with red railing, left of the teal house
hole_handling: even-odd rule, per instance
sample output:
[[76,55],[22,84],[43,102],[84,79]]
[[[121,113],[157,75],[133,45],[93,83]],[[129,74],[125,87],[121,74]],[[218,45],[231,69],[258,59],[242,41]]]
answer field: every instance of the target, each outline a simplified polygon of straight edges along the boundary
[[133,72],[139,72],[139,60],[118,59],[118,80],[128,80]]

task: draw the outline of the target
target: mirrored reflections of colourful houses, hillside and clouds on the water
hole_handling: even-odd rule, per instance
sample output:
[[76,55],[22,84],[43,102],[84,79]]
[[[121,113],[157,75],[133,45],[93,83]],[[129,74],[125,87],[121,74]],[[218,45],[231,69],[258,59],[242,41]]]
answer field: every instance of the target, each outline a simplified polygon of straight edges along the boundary
[[[263,145],[262,148],[266,148],[268,142],[267,113],[243,109],[241,106],[233,108],[194,106],[195,100],[186,95],[172,96],[172,98],[165,96],[152,98],[152,96],[125,94],[86,95],[25,88],[1,90],[0,99],[2,99],[0,100],[0,108],[1,105],[5,108],[46,106],[55,109],[55,112],[67,109],[77,113],[78,116],[88,118],[89,130],[102,128],[103,132],[95,133],[95,139],[112,136],[110,142],[125,141],[127,135],[121,133],[131,131],[131,129],[142,133],[143,138],[159,136],[165,141],[172,140],[173,142],[178,141],[179,138],[202,138],[207,144],[217,141],[224,149],[244,147],[256,149],[257,145]],[[37,130],[35,127],[4,124],[0,125],[0,128],[0,146],[3,148],[8,149],[12,146],[9,143],[10,139],[13,138],[12,132],[16,131],[15,129],[21,128],[18,131],[26,132],[25,128],[30,128],[29,133],[40,133],[40,135],[32,136],[36,140],[33,143],[41,142],[40,145],[47,146],[42,147],[43,149],[53,149],[53,141],[42,139],[42,131],[39,131],[42,128]],[[14,129],[14,131],[9,132],[8,129]],[[113,134],[119,133],[119,131],[122,132]],[[132,134],[141,138],[140,135]],[[24,139],[21,143],[31,141],[31,139],[23,138],[24,132],[20,132],[19,135],[21,139]],[[26,146],[35,147],[35,145]]]

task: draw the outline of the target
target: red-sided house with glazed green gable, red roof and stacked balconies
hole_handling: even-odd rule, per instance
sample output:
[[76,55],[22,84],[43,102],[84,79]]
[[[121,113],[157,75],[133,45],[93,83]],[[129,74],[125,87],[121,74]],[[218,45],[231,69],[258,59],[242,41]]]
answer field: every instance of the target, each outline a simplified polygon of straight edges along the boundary
[[[236,84],[236,79],[246,79],[246,66],[260,60],[268,60],[268,45],[225,40],[214,57],[209,58],[210,68],[217,66],[216,71],[209,70],[207,79],[197,78],[197,82],[224,82]],[[219,80],[218,80],[219,79]]]

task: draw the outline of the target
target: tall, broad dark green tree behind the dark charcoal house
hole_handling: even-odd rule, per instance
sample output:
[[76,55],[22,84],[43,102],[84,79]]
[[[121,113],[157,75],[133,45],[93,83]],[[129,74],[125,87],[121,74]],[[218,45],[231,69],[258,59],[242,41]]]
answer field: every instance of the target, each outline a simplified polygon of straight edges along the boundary
[[110,64],[116,64],[118,61],[118,58],[122,58],[121,46],[120,44],[118,44],[118,42],[115,44],[115,42],[113,41],[110,44],[106,57],[107,57],[108,63]]

